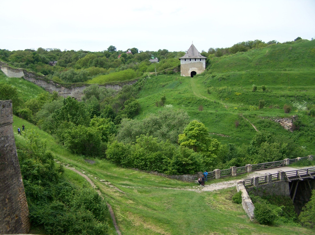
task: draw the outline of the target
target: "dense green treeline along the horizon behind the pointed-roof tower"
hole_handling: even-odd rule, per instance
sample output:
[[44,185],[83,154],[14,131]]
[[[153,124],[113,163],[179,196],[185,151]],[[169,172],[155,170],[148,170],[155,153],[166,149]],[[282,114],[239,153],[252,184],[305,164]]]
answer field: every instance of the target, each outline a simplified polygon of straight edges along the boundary
[[[208,52],[201,54],[208,57],[207,63],[213,57],[221,57],[237,52],[246,52],[250,49],[262,48],[264,46],[278,43],[269,41],[267,43],[261,40],[239,42],[232,47],[227,48],[209,48]],[[185,52],[169,52],[166,49],[154,51],[139,51],[137,48],[130,48],[129,51],[118,50],[115,46],[109,46],[102,52],[90,51],[61,51],[57,48],[38,48],[37,50],[26,49],[24,51],[8,51],[0,49],[1,61],[17,68],[28,68],[34,72],[47,75],[49,79],[63,81],[68,83],[87,82],[93,79],[92,83],[102,84],[108,79],[98,78],[100,75],[112,74],[123,70],[131,69],[134,73],[127,75],[120,74],[120,78],[115,80],[126,80],[139,77],[145,73],[164,71],[168,74],[177,72],[180,65],[179,57]],[[152,64],[149,59],[157,58],[159,63]],[[57,61],[55,66],[49,65],[49,62]],[[173,68],[173,69],[172,69]],[[168,69],[168,70],[167,70]],[[109,79],[111,81],[111,79]]]

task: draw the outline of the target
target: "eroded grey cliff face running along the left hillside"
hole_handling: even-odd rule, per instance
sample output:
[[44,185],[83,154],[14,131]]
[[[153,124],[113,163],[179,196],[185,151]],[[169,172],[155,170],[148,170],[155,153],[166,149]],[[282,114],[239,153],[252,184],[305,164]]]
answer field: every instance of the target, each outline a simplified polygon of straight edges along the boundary
[[[64,87],[58,83],[55,83],[52,80],[49,80],[46,76],[41,76],[36,73],[28,72],[25,69],[22,68],[11,68],[6,63],[0,62],[0,68],[2,72],[7,75],[9,78],[24,78],[25,80],[28,80],[32,83],[35,83],[36,85],[43,87],[45,90],[52,93],[53,91],[58,92],[60,96],[63,97],[74,97],[77,100],[81,101],[83,96],[83,90],[89,86],[89,84],[83,85],[83,86],[73,86],[71,88]],[[113,90],[120,90],[124,85],[132,85],[135,83],[135,81],[121,83],[119,85],[112,85],[107,84],[104,85],[106,88],[111,88]],[[100,85],[101,86],[101,85]]]

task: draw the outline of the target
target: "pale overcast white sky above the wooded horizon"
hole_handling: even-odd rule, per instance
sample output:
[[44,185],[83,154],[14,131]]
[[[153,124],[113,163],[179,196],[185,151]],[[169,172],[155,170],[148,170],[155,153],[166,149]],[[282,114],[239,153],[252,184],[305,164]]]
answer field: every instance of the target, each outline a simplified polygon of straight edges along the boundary
[[0,0],[0,49],[199,52],[315,38],[315,0]]

